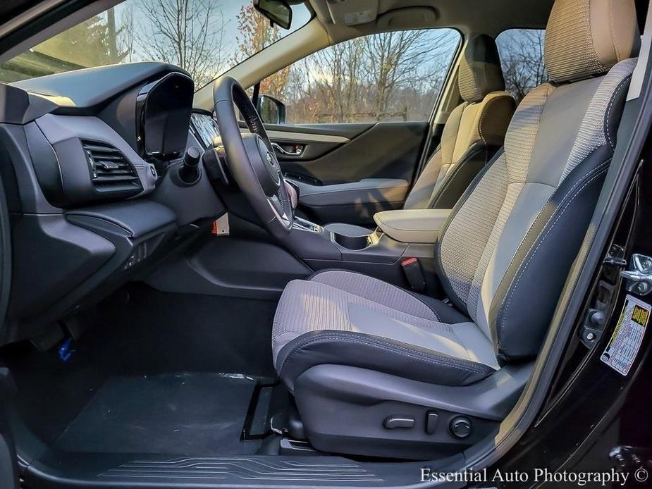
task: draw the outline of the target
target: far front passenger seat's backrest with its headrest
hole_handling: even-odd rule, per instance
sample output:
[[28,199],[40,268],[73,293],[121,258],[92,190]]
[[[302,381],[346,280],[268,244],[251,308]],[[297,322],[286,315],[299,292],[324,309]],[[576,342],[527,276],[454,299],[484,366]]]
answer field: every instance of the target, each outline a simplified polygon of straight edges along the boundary
[[516,102],[504,91],[498,48],[488,35],[469,39],[457,85],[464,102],[448,116],[441,144],[407,195],[405,209],[452,209],[503,146]]

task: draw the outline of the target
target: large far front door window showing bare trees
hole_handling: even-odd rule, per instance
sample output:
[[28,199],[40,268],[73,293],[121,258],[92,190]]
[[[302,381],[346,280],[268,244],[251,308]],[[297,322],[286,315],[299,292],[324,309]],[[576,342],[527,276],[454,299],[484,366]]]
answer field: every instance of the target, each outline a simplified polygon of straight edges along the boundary
[[427,120],[459,42],[453,29],[358,37],[262,80],[260,93],[283,101],[290,124]]

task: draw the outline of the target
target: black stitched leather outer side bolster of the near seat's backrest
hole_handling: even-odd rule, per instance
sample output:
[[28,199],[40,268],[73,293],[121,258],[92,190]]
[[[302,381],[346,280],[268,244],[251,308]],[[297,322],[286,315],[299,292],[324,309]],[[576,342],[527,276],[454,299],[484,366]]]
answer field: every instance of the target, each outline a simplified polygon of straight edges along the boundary
[[[593,215],[611,155],[610,147],[599,147],[569,173],[530,228],[500,281],[489,317],[494,347],[501,359],[527,359],[539,352],[565,277]],[[559,242],[565,246],[558,246]],[[545,291],[540,290],[541,283],[548,284]]]

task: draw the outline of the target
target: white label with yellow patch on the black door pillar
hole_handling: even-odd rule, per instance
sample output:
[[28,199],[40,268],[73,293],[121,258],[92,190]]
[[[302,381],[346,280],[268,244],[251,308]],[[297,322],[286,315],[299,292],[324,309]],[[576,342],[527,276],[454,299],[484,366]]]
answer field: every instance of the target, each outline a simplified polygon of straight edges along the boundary
[[639,352],[652,306],[627,295],[616,329],[600,359],[626,376]]

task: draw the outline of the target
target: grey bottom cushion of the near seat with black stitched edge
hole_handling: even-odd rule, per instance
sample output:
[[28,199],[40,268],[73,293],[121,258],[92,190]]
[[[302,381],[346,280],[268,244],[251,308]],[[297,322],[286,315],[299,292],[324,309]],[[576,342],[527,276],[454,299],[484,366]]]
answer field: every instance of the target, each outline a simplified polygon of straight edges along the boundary
[[[438,307],[450,309],[441,302]],[[326,332],[331,332],[329,341],[319,349]],[[336,342],[364,342],[365,348],[358,349],[355,358],[343,358],[337,350],[328,351]],[[444,323],[417,295],[340,270],[293,280],[285,287],[274,317],[272,344],[276,369],[290,388],[297,368],[309,368],[317,356],[443,385],[473,383],[498,369],[491,342],[468,318]],[[311,354],[306,355],[306,349]],[[408,358],[418,353],[425,371],[414,364],[411,370],[397,371],[395,365],[386,364],[387,352]]]

